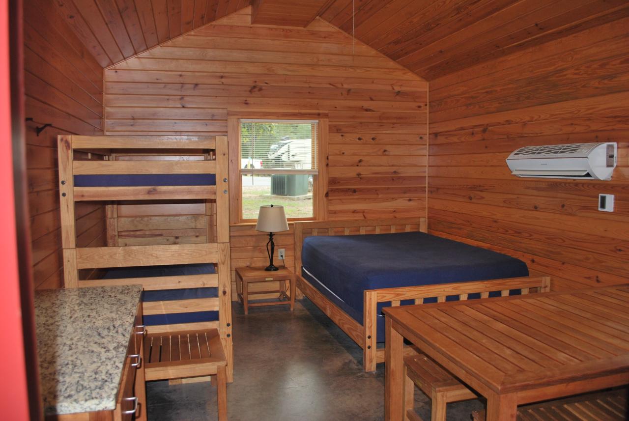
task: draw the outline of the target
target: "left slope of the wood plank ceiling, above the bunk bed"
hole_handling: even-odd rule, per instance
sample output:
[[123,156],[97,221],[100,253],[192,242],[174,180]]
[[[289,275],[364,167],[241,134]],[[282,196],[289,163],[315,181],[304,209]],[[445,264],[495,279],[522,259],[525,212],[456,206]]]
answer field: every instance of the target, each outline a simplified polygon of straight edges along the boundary
[[145,52],[250,3],[250,0],[52,1],[102,67]]

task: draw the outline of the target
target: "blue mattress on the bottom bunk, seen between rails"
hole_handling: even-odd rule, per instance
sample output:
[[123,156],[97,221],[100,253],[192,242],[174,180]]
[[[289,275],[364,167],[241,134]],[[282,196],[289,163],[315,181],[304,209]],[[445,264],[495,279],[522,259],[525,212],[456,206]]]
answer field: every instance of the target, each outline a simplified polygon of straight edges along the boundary
[[[216,273],[212,263],[193,265],[138,266],[133,268],[111,268],[103,279],[152,278],[154,276],[185,276]],[[184,288],[177,290],[144,291],[142,302],[191,300],[194,298],[218,297],[218,288]],[[218,320],[218,311],[146,314],[143,317],[147,326],[181,324],[194,322],[213,322]]]

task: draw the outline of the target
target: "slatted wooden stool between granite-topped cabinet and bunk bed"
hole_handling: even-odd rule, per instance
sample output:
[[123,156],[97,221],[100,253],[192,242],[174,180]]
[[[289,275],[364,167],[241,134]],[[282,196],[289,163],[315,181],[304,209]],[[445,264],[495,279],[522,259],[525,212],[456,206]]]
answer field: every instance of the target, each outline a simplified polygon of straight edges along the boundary
[[147,381],[216,376],[218,420],[227,421],[227,360],[218,329],[148,334],[144,361]]

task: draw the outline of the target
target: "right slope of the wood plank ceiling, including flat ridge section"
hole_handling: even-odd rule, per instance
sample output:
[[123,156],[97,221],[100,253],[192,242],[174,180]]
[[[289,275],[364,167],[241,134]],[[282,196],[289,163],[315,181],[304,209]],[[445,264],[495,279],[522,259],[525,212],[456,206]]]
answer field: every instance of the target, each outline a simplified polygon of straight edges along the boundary
[[253,8],[257,23],[296,26],[320,8],[321,18],[427,80],[629,14],[625,0],[257,0]]

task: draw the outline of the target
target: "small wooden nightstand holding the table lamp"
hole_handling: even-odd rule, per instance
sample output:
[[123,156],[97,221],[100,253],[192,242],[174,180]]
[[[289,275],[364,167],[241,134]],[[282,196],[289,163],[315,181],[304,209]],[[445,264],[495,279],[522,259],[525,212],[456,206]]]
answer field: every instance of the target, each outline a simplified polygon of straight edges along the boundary
[[[286,282],[289,283],[291,295],[286,295]],[[279,290],[264,292],[248,292],[248,284],[253,282],[279,282]],[[263,267],[237,268],[236,269],[236,290],[238,292],[238,300],[245,307],[245,314],[248,314],[249,307],[261,307],[263,305],[282,305],[290,304],[291,311],[295,309],[295,275],[287,268],[280,268],[276,271],[265,271]],[[277,292],[282,297],[286,297],[288,301],[270,301],[250,303],[248,295],[266,294]]]

